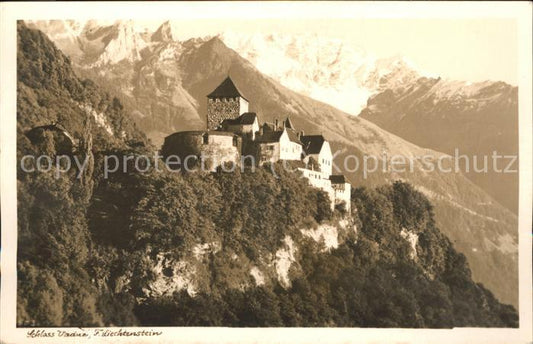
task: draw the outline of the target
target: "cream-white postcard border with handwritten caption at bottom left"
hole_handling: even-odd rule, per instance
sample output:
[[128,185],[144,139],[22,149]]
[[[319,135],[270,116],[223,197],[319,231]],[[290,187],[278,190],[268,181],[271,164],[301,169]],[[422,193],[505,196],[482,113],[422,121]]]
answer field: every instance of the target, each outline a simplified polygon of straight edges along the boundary
[[[178,19],[224,16],[254,18],[510,18],[519,35],[520,124],[520,328],[519,329],[351,329],[351,328],[194,328],[122,327],[124,331],[161,331],[160,336],[60,338],[65,343],[525,343],[533,339],[532,318],[532,105],[530,2],[115,2],[2,3],[0,84],[0,190],[2,213],[1,337],[5,343],[57,343],[30,339],[16,328],[16,21],[18,19]],[[49,329],[47,329],[49,330]],[[58,329],[52,329],[56,331]],[[75,330],[65,328],[65,330]],[[94,329],[78,329],[94,334]]]

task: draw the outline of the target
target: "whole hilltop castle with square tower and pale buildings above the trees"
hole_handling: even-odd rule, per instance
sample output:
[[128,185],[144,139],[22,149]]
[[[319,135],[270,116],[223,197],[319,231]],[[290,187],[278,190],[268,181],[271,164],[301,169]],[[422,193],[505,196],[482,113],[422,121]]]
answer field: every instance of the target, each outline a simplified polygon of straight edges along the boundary
[[248,100],[229,77],[207,95],[206,121],[206,130],[167,136],[162,155],[176,155],[185,163],[202,157],[201,163],[211,171],[226,163],[243,164],[246,157],[253,157],[258,166],[292,161],[310,185],[328,194],[332,208],[344,203],[350,210],[351,185],[343,175],[332,174],[328,141],[322,135],[296,131],[288,117],[259,125],[257,114],[249,112]]

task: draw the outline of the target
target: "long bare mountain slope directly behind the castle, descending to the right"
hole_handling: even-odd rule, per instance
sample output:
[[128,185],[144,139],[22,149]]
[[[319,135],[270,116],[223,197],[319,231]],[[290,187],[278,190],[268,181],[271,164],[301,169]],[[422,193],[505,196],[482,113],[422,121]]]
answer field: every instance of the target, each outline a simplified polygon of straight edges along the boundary
[[[258,112],[261,121],[291,116],[298,129],[323,133],[332,141],[334,150],[341,152],[336,159],[340,166],[347,155],[357,156],[361,164],[364,154],[428,155],[433,160],[442,156],[406,142],[363,118],[288,89],[261,73],[218,37],[177,42],[172,40],[172,30],[164,24],[153,35],[134,33],[137,36],[129,41],[130,45],[121,45],[125,51],[139,51],[139,54],[116,63],[107,58],[102,60],[101,56],[109,56],[108,45],[118,45],[114,39],[120,36],[117,32],[127,31],[124,26],[128,23],[89,26],[92,35],[84,31],[78,36],[80,49],[99,46],[101,53],[99,57],[89,54],[90,59],[83,55],[73,62],[80,75],[91,77],[102,88],[119,94],[125,108],[155,142],[177,130],[204,127],[205,95],[229,74],[250,101],[250,110]],[[42,27],[46,32],[47,26]],[[144,43],[137,46],[135,42],[139,38]],[[94,40],[99,44],[83,43]],[[140,49],[141,46],[144,48]],[[89,62],[84,62],[86,59]],[[424,192],[435,204],[439,227],[467,256],[473,278],[487,285],[504,302],[517,304],[516,216],[463,174],[430,173],[420,161],[413,164],[412,172],[407,169],[404,173],[391,173],[390,169],[379,168],[367,178],[361,170],[347,174],[355,186],[376,186],[402,179]]]

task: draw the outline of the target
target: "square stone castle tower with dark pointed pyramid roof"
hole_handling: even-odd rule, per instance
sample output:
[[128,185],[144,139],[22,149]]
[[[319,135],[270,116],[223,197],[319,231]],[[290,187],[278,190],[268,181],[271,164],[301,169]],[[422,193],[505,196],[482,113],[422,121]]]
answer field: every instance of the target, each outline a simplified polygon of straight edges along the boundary
[[228,76],[207,95],[207,130],[218,129],[223,120],[235,119],[246,112],[248,100]]

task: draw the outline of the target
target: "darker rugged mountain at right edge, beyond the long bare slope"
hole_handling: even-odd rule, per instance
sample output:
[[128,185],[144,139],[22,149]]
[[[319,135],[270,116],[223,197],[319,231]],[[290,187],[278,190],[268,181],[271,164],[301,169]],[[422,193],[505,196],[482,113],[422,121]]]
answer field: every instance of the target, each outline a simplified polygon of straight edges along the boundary
[[[510,169],[514,173],[501,173],[511,159],[501,159],[498,171],[492,165],[493,152],[518,156],[517,87],[420,78],[373,96],[360,116],[419,146],[467,155],[466,176],[517,213],[518,161]],[[474,171],[484,164],[487,172]]]

